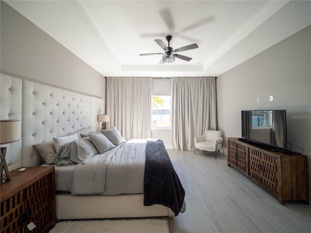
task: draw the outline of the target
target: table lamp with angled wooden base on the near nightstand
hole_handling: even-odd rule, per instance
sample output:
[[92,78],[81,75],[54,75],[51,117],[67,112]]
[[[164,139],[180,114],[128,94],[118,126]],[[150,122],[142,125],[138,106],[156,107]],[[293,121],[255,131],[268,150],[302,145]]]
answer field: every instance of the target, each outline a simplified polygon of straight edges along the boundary
[[[0,120],[0,144],[8,144],[20,140],[19,120]],[[11,180],[9,168],[5,162],[6,147],[1,147],[1,184]],[[3,170],[6,178],[2,179]]]

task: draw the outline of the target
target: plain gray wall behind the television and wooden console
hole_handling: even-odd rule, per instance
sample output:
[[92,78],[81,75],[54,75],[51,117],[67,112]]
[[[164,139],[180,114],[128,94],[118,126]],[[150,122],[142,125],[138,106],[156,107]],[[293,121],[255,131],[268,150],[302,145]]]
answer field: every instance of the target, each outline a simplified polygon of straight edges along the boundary
[[311,187],[311,26],[220,75],[217,101],[225,147],[241,137],[241,110],[286,109],[287,140],[308,156]]

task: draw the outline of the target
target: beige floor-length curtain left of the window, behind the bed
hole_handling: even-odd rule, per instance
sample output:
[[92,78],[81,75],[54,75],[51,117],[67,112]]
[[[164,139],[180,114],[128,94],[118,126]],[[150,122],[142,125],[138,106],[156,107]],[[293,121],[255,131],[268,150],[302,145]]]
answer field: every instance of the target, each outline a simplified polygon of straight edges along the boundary
[[107,77],[106,114],[124,138],[151,137],[152,78]]

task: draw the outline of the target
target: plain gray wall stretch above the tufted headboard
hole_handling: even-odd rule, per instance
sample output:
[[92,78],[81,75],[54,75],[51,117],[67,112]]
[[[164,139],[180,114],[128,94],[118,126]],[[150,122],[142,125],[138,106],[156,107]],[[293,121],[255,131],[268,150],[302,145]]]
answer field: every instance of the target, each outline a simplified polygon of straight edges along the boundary
[[104,76],[1,1],[1,72],[105,99]]

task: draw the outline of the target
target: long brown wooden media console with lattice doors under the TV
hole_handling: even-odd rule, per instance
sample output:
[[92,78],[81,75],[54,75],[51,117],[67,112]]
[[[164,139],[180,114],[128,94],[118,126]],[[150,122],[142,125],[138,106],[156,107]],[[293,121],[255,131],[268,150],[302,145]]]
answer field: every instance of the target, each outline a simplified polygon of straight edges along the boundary
[[228,166],[276,196],[284,205],[288,200],[309,204],[308,157],[272,152],[228,138]]

